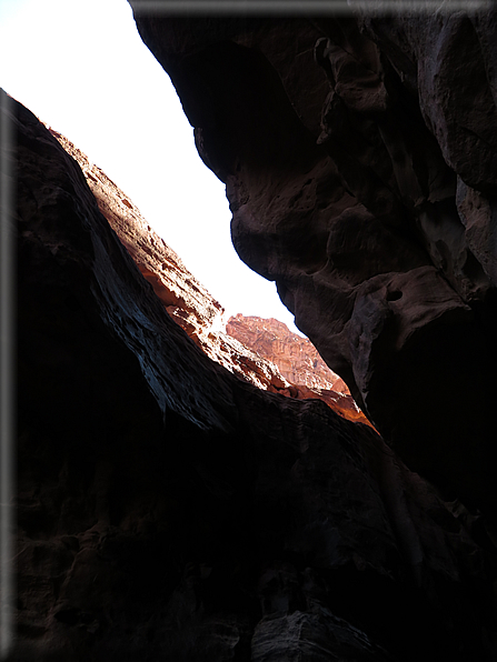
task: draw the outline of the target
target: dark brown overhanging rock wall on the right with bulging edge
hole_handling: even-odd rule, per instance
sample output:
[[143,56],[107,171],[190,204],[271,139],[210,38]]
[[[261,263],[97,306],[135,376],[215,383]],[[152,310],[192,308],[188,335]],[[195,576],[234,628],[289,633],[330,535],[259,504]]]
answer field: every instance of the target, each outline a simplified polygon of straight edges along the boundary
[[495,518],[495,10],[130,3],[226,182],[240,258],[409,468]]

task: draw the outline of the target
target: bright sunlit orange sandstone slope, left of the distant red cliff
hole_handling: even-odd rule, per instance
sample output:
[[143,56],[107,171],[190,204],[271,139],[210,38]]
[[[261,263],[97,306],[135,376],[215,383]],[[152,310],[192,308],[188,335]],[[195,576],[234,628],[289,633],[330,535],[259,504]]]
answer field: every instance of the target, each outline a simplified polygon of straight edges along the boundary
[[50,131],[79,163],[100,211],[175,322],[210,359],[237,377],[264,390],[288,390],[289,382],[275,364],[223,332],[222,305],[152,230],[126,193],[70,140]]

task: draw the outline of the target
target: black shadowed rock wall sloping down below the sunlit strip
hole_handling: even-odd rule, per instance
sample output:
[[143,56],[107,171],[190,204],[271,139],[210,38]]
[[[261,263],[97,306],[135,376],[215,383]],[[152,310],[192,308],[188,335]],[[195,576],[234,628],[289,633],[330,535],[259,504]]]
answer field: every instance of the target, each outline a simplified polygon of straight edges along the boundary
[[18,192],[10,660],[495,659],[481,518],[370,428],[206,357],[78,163],[0,100]]

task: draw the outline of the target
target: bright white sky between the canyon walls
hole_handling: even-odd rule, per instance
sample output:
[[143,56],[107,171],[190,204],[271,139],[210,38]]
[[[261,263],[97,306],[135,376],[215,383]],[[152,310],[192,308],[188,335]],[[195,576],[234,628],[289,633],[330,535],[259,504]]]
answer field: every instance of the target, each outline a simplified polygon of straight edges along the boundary
[[228,314],[298,331],[276,284],[239,260],[225,185],[126,0],[0,0],[0,87],[101,168]]

